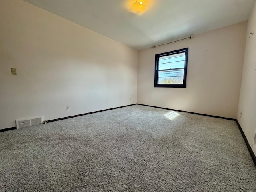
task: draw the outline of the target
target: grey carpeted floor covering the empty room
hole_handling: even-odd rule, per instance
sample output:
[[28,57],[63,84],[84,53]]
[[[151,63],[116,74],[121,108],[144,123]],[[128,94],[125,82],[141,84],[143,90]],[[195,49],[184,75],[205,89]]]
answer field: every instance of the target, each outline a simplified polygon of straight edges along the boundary
[[0,191],[256,191],[236,122],[171,113],[134,105],[0,132]]

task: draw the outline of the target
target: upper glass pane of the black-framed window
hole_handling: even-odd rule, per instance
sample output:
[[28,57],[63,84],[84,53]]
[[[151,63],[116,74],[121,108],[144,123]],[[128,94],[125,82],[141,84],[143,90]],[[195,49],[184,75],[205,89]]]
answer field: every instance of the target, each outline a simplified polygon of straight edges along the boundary
[[185,67],[185,53],[159,57],[158,70]]

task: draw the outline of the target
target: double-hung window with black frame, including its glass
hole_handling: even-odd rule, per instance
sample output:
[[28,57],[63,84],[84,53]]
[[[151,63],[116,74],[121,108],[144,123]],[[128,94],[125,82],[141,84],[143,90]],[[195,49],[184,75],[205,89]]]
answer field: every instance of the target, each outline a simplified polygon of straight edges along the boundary
[[186,87],[188,48],[156,54],[154,87]]

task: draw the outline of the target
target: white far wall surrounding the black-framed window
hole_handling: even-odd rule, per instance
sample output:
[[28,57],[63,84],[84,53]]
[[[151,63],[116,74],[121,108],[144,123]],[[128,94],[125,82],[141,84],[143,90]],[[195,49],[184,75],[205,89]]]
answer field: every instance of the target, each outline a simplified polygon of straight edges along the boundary
[[[247,22],[138,52],[138,103],[236,118]],[[154,88],[155,54],[188,47],[186,88]]]

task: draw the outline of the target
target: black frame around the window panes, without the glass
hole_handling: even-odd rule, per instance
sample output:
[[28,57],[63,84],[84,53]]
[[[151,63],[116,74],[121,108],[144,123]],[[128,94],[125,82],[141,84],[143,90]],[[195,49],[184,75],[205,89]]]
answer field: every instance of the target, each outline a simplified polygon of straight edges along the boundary
[[[174,55],[179,53],[185,53],[185,66],[184,66],[184,78],[183,84],[158,84],[158,63],[159,58],[162,56]],[[155,58],[155,82],[154,87],[179,87],[179,88],[186,88],[186,81],[187,81],[187,68],[188,68],[188,48],[183,48],[179,50],[174,50],[170,52],[156,54]],[[167,70],[167,69],[166,69]],[[168,69],[170,70],[170,69]]]

